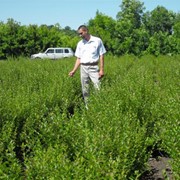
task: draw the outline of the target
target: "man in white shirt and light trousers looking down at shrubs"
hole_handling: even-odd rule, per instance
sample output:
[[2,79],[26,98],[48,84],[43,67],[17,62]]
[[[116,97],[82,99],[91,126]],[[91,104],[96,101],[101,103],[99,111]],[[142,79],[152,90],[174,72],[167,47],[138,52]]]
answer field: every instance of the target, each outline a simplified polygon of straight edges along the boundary
[[91,80],[94,87],[99,90],[100,79],[104,76],[104,54],[106,49],[102,40],[89,34],[85,25],[79,26],[78,34],[82,40],[77,44],[75,51],[77,59],[69,76],[72,77],[80,66],[82,94],[87,107],[89,81]]

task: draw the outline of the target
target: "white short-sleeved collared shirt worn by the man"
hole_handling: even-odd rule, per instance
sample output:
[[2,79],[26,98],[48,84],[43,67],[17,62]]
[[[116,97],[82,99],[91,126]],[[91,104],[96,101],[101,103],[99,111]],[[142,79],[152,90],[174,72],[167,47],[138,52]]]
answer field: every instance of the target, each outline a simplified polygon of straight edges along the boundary
[[82,39],[78,42],[75,56],[80,58],[81,63],[95,63],[104,53],[106,53],[106,49],[102,40],[91,35],[89,41]]

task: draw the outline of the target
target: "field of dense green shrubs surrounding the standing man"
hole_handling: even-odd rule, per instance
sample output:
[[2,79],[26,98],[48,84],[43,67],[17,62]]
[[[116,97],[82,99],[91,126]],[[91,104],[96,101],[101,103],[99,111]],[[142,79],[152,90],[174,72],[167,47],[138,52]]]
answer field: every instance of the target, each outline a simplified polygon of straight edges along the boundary
[[140,179],[157,149],[178,179],[180,56],[107,56],[88,110],[74,62],[0,61],[0,179]]

